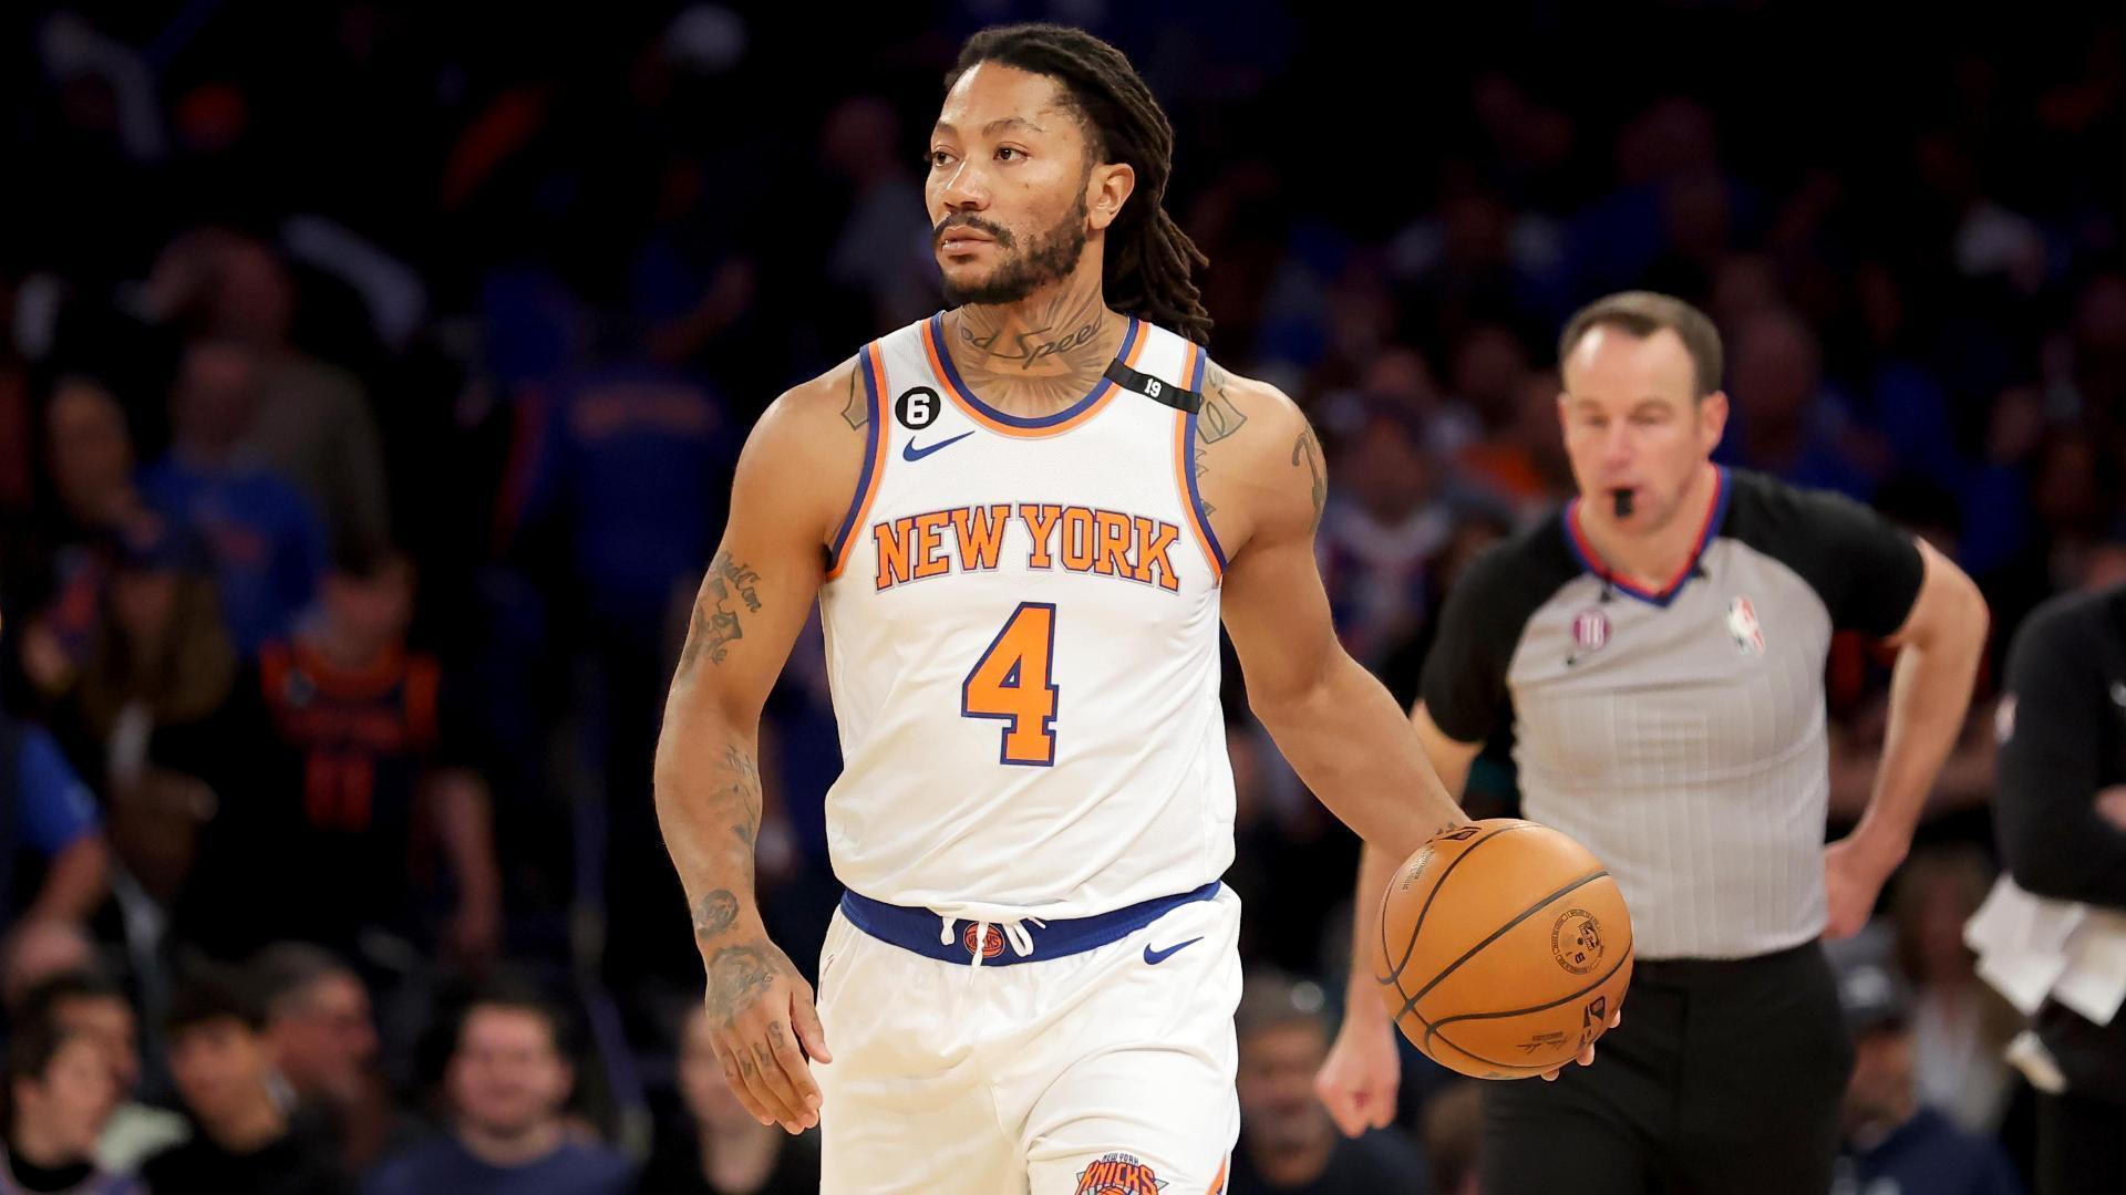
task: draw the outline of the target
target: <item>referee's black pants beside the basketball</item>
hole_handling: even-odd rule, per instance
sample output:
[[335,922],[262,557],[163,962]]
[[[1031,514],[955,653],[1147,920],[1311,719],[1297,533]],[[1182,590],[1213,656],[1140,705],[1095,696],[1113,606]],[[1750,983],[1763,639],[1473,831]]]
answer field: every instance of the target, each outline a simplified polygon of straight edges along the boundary
[[1816,942],[1641,961],[1594,1065],[1484,1084],[1484,1195],[1816,1195],[1854,1046]]

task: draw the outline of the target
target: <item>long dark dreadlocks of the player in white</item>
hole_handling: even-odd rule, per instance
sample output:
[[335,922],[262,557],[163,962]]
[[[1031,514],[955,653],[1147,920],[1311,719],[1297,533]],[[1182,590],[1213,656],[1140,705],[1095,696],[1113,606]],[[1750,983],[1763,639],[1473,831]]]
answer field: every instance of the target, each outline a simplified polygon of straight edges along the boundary
[[1108,306],[1210,344],[1210,313],[1191,279],[1210,259],[1165,211],[1174,125],[1123,51],[1065,26],[1001,26],[967,40],[946,89],[982,62],[1059,81],[1093,134],[1093,159],[1127,162],[1137,172],[1137,193],[1108,228]]

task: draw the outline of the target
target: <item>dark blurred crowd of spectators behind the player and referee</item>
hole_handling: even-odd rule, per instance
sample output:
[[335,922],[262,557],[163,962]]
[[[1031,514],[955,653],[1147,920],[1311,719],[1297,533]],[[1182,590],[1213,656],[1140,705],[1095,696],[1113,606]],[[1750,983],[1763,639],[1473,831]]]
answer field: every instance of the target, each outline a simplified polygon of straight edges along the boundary
[[[1042,15],[1167,104],[1212,349],[1320,430],[1337,627],[1401,700],[1456,572],[1571,493],[1554,336],[1612,289],[1720,323],[1718,459],[1981,580],[1994,668],[1854,961],[1892,995],[1854,997],[1890,1046],[1852,1121],[1856,1157],[1926,1114],[2026,1163],[2018,1025],[1960,927],[1996,872],[1998,644],[2126,580],[2122,26],[1052,9],[833,38],[682,2],[0,15],[0,1191],[816,1186],[689,1014],[651,748],[746,427],[938,306],[938,83]],[[1233,1191],[1473,1191],[1446,1072],[1410,1055],[1361,1142],[1312,1097],[1356,842],[1227,676]],[[1830,693],[1850,821],[1886,659],[1839,642]],[[838,899],[816,621],[761,759],[763,908],[808,965]],[[1514,808],[1503,742],[1469,806]]]

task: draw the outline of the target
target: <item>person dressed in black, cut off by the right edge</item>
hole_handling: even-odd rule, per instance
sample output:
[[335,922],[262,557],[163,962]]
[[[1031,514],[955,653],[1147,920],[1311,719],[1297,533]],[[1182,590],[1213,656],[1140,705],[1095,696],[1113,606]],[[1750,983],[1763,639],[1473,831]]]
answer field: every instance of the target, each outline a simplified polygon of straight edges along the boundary
[[[2043,897],[2126,912],[2126,587],[2030,612],[1996,719],[2009,874]],[[2047,1002],[2037,1036],[2062,1087],[2037,1101],[2039,1195],[2126,1191],[2126,1010],[2100,1027]]]

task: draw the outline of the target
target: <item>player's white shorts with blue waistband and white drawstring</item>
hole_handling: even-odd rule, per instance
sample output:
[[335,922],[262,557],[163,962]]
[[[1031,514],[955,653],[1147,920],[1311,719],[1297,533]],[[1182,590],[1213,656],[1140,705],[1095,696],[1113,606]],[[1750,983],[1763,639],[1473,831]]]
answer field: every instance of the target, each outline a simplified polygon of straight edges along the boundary
[[1222,1195],[1237,946],[1225,885],[1010,929],[844,899],[819,970],[821,1191]]

